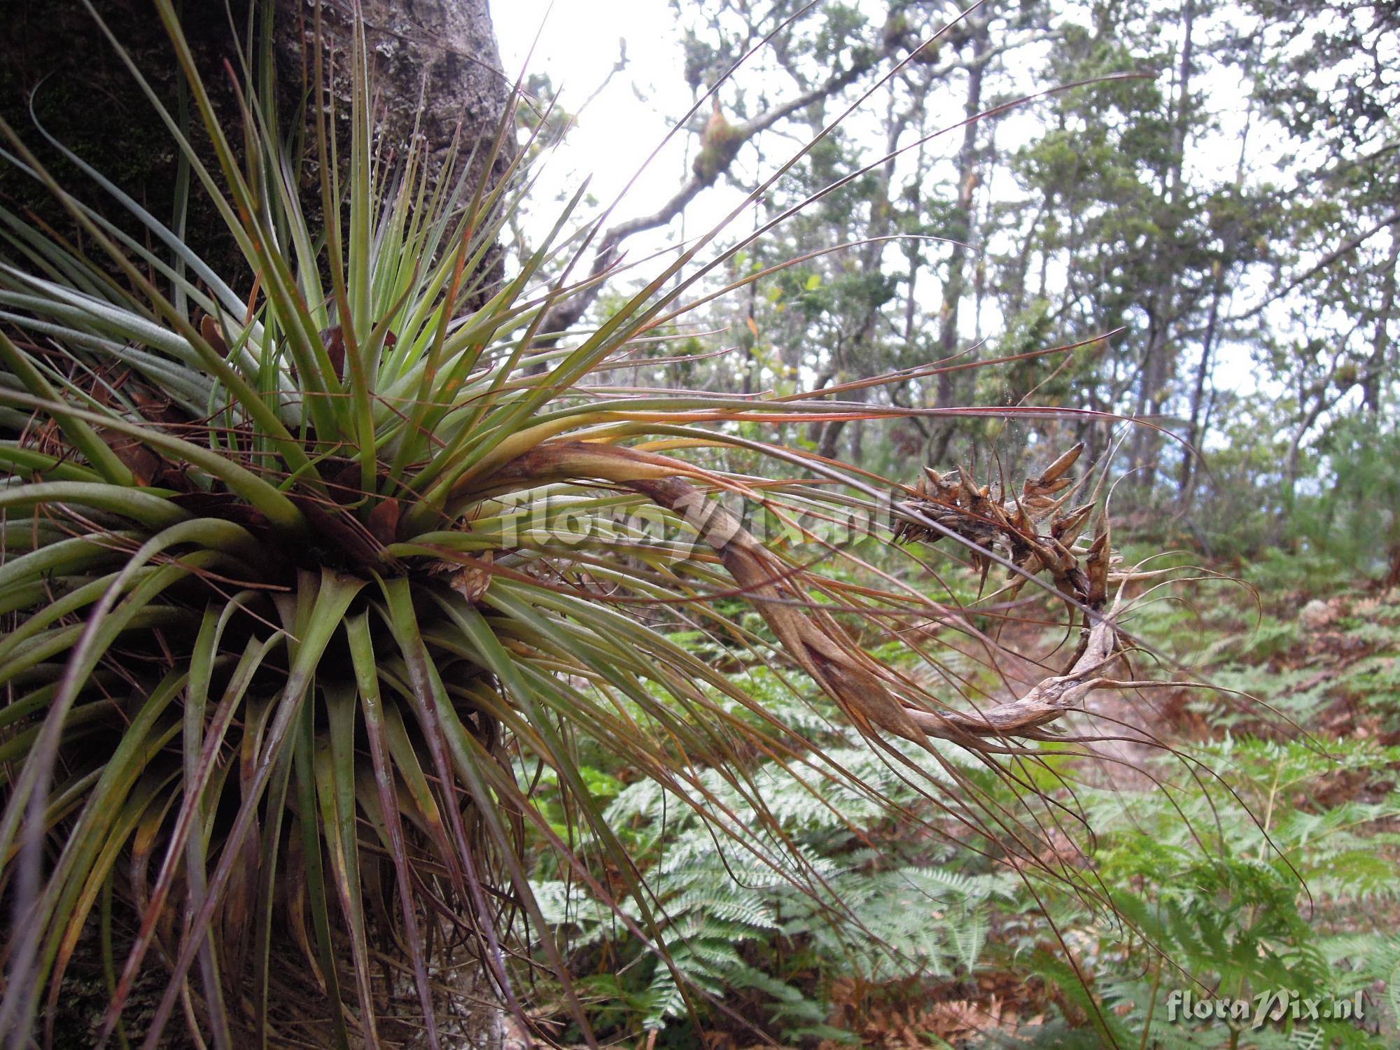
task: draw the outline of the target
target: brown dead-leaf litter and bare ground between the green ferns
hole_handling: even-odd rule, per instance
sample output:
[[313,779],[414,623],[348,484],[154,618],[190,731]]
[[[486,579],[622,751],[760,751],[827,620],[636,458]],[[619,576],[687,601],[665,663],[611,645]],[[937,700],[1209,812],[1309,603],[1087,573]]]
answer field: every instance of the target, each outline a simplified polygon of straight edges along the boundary
[[[1149,641],[1168,659],[1144,661],[1138,654],[1140,665],[1155,662],[1158,678],[1180,685],[1093,693],[1088,703],[1092,718],[1078,720],[1077,728],[1119,738],[1092,745],[1098,757],[1079,763],[1082,780],[1120,792],[1152,791],[1158,781],[1147,770],[1162,753],[1162,745],[1190,749],[1226,736],[1302,741],[1323,755],[1345,742],[1373,742],[1382,748],[1400,743],[1400,589],[1366,585],[1334,589],[1323,587],[1319,594],[1308,584],[1270,592],[1235,588],[1221,602],[1221,591],[1215,588],[1212,612],[1204,619],[1184,601],[1182,608],[1190,610],[1184,622],[1197,637],[1184,645],[1182,637],[1163,645],[1163,634],[1155,630]],[[1183,634],[1189,637],[1191,630]],[[1009,650],[1033,652],[1039,641],[1039,651],[1046,651],[1046,638],[1037,638],[1035,629],[1018,631],[1023,637],[1001,638]],[[1004,665],[1002,671],[1012,685],[998,700],[1011,699],[1019,687],[1015,683],[1029,686],[1046,673],[1044,664],[1033,659]],[[1222,689],[1194,685],[1203,682]],[[1347,802],[1375,804],[1394,792],[1397,769],[1400,764],[1394,762],[1362,770],[1338,763],[1291,801],[1317,812]],[[1393,857],[1400,819],[1378,820],[1368,830],[1375,836],[1378,855]],[[1075,853],[1078,846],[1065,841],[1063,848]],[[1382,931],[1400,927],[1400,903],[1394,899],[1368,900],[1364,909],[1348,899],[1310,903],[1319,927],[1352,928],[1358,935],[1383,935]],[[1072,942],[1070,946],[1077,948]],[[1081,959],[1081,965],[1092,979],[1092,960]],[[1383,1001],[1383,986],[1371,991]],[[861,1046],[879,1050],[1044,1046],[1036,1037],[1037,1029],[1056,1007],[1061,1011],[1067,1007],[1063,1000],[1056,1001],[1058,994],[1043,981],[1026,980],[1015,969],[993,969],[938,984],[909,981],[875,998],[879,1005],[872,1007],[869,988],[857,988],[854,983],[844,995],[843,988],[834,988],[832,1021],[857,1036]],[[1383,1044],[1400,1046],[1394,1016],[1382,1015],[1368,1028],[1386,1040]],[[822,1050],[850,1044],[826,1040]],[[1253,1044],[1245,1039],[1238,1046]]]

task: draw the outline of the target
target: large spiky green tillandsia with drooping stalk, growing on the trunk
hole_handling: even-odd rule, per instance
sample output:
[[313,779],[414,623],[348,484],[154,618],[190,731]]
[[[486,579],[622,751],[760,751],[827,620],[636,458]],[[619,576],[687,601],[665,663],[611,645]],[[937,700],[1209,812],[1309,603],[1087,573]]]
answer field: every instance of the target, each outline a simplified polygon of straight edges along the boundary
[[[980,756],[1033,801],[1021,764],[1035,745],[1007,735],[1043,738],[1116,659],[1100,615],[1116,581],[1106,533],[1075,549],[1088,512],[1068,514],[1072,528],[1054,517],[1068,462],[1026,490],[1023,511],[988,510],[970,477],[903,489],[892,508],[904,539],[951,536],[1018,578],[1049,570],[1084,617],[1085,644],[1043,689],[987,713],[976,697],[949,706],[860,638],[956,610],[892,578],[881,589],[809,564],[858,563],[809,526],[889,505],[892,486],[731,426],[896,410],[596,382],[685,315],[680,297],[707,267],[673,279],[708,238],[595,330],[545,339],[560,336],[540,330],[550,309],[606,274],[546,279],[570,251],[566,213],[490,284],[522,174],[468,185],[452,160],[430,175],[421,151],[377,151],[363,36],[340,59],[349,143],[318,94],[302,150],[256,73],[266,35],[249,35],[263,42],[248,56],[242,126],[225,127],[172,3],[157,7],[217,164],[147,94],[241,272],[216,273],[70,155],[123,223],[81,203],[0,127],[4,162],[46,183],[81,231],[0,211],[7,1046],[52,1039],[64,973],[94,942],[108,988],[99,1044],[154,1047],[175,1011],[218,1047],[239,1033],[259,1046],[442,1046],[472,997],[524,1015],[512,955],[570,987],[521,860],[526,836],[659,945],[645,875],[575,762],[581,738],[802,878],[778,822],[741,827],[707,811],[697,770],[722,770],[762,819],[746,757],[798,776],[806,745],[658,630],[665,617],[805,672],[955,827],[1035,867],[1037,829],[1063,806],[1008,812],[945,755]],[[319,92],[319,39],[314,53]],[[323,230],[302,207],[304,154],[318,161]],[[725,470],[725,449],[771,469]],[[760,540],[717,496],[799,542]],[[897,550],[888,528],[871,535]],[[762,624],[728,616],[735,598]],[[532,805],[522,757],[557,781],[609,885]],[[477,960],[475,987],[451,977],[463,958]],[[153,967],[168,981],[127,1032],[123,1011]]]

